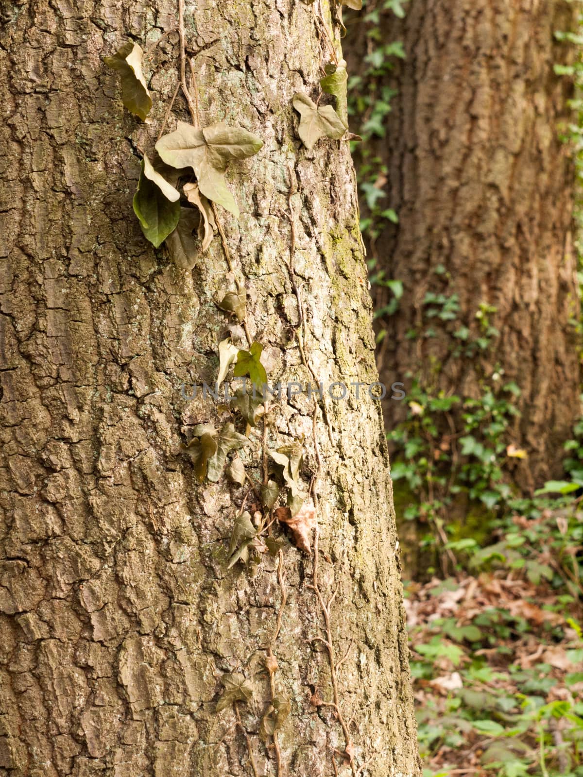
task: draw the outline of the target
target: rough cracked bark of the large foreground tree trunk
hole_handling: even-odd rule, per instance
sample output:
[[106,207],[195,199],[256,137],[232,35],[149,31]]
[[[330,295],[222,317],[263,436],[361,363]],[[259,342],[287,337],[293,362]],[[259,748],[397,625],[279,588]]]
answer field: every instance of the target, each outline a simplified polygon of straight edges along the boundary
[[[280,611],[275,682],[292,702],[281,773],[354,773],[338,754],[332,762],[347,747],[333,707],[314,703],[331,702],[333,690],[326,647],[314,640],[325,631],[313,556],[287,545],[285,606],[268,554],[255,577],[240,565],[226,571],[245,490],[224,479],[200,485],[179,452],[194,424],[221,412],[200,394],[185,401],[180,384],[215,378],[229,319],[214,300],[232,278],[218,237],[194,272],[178,270],[131,213],[138,149],[152,147],[176,83],[176,35],[145,66],[152,124],[124,111],[117,75],[101,61],[124,35],[146,48],[175,28],[175,6],[0,9],[0,774],[251,775],[233,710],[215,713],[223,674],[241,671],[254,689],[239,712],[258,773],[275,775],[274,748],[257,732]],[[319,2],[197,0],[187,5],[187,47],[204,120],[265,141],[229,170],[241,218],[222,216],[270,382],[311,378],[282,261],[291,219],[311,367],[325,385],[370,383],[371,303],[347,143],[306,152],[291,106],[298,89],[316,95],[326,61],[318,11]],[[180,97],[176,109],[187,120]],[[378,403],[361,389],[358,401],[351,391],[326,404],[331,434],[317,395],[302,395],[274,406],[268,443],[305,435],[306,487],[319,443],[319,586],[326,600],[337,591],[330,632],[354,763],[368,762],[364,775],[416,775]],[[259,476],[260,433],[250,434],[242,455]]]

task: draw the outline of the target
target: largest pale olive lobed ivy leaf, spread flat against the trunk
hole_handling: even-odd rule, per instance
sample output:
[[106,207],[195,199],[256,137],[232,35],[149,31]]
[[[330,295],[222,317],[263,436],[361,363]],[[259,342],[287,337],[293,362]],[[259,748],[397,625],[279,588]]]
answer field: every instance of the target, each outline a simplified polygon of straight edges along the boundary
[[201,193],[222,205],[237,218],[239,207],[227,189],[223,173],[232,159],[257,154],[263,141],[243,127],[228,127],[223,122],[197,130],[179,121],[176,130],[164,135],[155,148],[164,162],[173,167],[191,167]]

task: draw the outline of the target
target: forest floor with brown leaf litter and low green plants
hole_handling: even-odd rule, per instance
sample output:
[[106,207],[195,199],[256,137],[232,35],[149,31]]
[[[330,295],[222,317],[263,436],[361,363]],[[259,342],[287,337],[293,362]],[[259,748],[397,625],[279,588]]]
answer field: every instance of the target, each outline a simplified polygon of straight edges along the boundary
[[405,584],[424,775],[583,775],[583,511],[501,522]]

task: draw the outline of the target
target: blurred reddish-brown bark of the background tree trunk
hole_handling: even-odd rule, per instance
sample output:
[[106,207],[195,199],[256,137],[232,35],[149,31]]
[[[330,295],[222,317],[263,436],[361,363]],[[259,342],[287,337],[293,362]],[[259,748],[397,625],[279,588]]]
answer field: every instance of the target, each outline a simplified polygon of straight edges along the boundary
[[[382,16],[382,39],[402,40],[407,59],[396,64],[398,94],[375,147],[388,166],[383,207],[400,220],[375,253],[405,286],[383,322],[379,369],[474,397],[496,370],[515,381],[522,420],[512,441],[529,451],[515,475],[527,490],[560,472],[557,450],[580,412],[574,173],[559,138],[572,85],[553,73],[573,55],[554,33],[572,30],[574,15],[564,0],[410,0],[403,20]],[[367,45],[350,41],[355,65]],[[457,294],[456,320],[428,319],[427,292]],[[379,307],[387,294],[379,289]],[[459,357],[453,333],[481,335],[480,303],[496,308],[500,334]],[[386,403],[389,425],[403,409]]]

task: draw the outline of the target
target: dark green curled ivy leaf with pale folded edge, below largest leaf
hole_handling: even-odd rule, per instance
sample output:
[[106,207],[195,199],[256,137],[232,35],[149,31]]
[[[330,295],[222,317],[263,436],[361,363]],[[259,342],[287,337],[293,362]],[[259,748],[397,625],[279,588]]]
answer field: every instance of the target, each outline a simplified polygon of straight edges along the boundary
[[[162,182],[166,186],[162,187]],[[176,199],[172,192],[176,192]],[[155,248],[173,232],[180,218],[180,193],[170,186],[150,164],[148,157],[141,160],[138,189],[134,194],[134,213],[140,221],[141,231]]]

